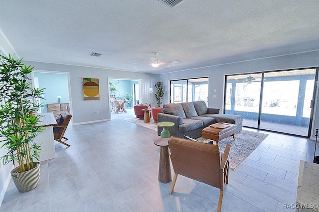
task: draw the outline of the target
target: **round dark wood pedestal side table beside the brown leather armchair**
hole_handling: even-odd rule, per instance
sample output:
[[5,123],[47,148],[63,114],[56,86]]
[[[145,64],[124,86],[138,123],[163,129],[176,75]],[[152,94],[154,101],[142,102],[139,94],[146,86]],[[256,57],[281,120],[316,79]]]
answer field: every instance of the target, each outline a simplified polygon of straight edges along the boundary
[[160,146],[159,181],[161,183],[169,183],[171,181],[168,139],[169,138],[159,138],[154,141],[155,145]]

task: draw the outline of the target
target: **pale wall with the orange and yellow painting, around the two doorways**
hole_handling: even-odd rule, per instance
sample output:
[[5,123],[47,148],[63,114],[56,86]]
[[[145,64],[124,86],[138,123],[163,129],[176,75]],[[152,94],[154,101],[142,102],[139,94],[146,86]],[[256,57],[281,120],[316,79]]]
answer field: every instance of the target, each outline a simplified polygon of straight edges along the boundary
[[[70,107],[72,112],[72,124],[105,121],[110,119],[109,107],[109,83],[108,78],[142,79],[142,101],[150,99],[149,88],[152,83],[159,79],[159,75],[144,74],[138,72],[127,72],[108,70],[92,67],[70,66],[51,63],[39,63],[23,61],[25,65],[34,66],[36,71],[59,71],[68,72],[70,81]],[[82,78],[98,78],[100,87],[100,100],[83,100]],[[95,111],[99,113],[95,113]]]

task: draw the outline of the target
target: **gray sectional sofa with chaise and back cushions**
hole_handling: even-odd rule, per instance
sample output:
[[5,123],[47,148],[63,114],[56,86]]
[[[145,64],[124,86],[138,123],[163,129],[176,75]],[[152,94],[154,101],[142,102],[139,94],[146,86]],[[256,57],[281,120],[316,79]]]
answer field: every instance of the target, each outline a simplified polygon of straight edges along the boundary
[[[164,104],[163,112],[158,114],[158,122],[173,122],[175,125],[168,128],[170,135],[180,138],[183,135],[200,137],[203,128],[217,122],[236,124],[237,132],[242,130],[243,116],[218,113],[219,109],[207,108],[204,101]],[[158,126],[158,135],[161,130],[162,127]]]

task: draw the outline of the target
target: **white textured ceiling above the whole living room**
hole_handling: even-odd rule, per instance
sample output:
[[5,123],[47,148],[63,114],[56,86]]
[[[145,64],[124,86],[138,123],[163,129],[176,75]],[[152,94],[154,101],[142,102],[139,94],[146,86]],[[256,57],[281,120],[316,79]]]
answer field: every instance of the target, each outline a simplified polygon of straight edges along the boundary
[[[24,60],[159,74],[318,50],[318,11],[319,0],[5,0],[0,29]],[[153,68],[154,52],[182,63]]]

